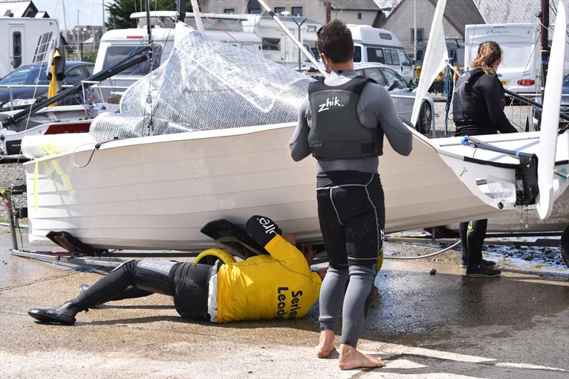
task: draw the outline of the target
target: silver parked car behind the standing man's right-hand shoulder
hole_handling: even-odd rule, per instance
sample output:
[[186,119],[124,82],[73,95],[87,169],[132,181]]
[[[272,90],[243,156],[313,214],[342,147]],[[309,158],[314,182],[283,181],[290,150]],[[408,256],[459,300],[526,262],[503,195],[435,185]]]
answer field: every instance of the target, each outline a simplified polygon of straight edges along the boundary
[[[411,119],[413,104],[415,103],[415,87],[409,85],[401,75],[381,63],[354,63],[354,70],[358,75],[375,80],[378,85],[383,85],[389,91],[389,95],[395,103],[395,109],[400,116]],[[419,119],[415,129],[422,134],[430,132],[433,126],[434,102],[430,93],[423,97],[419,112]]]

